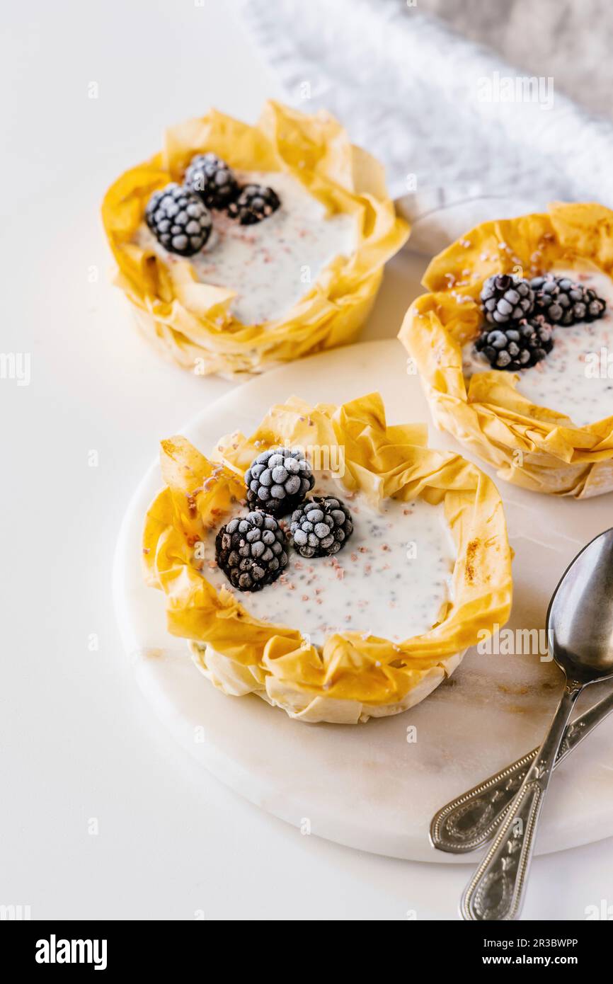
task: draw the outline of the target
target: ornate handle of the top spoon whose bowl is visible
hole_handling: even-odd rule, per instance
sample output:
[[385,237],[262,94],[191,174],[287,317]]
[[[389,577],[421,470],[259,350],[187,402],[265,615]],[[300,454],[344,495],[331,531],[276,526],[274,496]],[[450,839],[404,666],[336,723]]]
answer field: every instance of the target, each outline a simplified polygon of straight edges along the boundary
[[538,817],[582,685],[567,682],[549,732],[496,832],[494,842],[461,897],[462,919],[517,919],[532,857]]

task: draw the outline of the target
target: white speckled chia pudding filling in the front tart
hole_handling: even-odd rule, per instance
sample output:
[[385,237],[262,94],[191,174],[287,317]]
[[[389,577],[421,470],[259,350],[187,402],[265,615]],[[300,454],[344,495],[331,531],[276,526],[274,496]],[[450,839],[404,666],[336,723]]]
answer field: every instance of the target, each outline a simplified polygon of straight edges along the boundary
[[378,511],[327,472],[312,494],[336,496],[351,512],[353,532],[337,554],[307,560],[288,546],[289,562],[273,584],[241,592],[217,568],[211,530],[199,549],[204,560],[195,562],[207,581],[231,590],[255,618],[298,629],[316,646],[342,632],[400,643],[439,622],[452,598],[456,560],[443,506],[386,499]]

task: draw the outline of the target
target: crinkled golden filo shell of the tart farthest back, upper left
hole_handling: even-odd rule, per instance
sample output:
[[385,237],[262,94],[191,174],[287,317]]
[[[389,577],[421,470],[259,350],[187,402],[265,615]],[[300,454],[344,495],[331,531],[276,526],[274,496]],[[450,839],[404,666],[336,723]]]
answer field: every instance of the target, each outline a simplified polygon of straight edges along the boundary
[[[189,260],[165,264],[133,240],[153,192],[181,183],[194,154],[211,151],[231,167],[283,171],[329,214],[355,216],[356,249],[337,257],[280,319],[243,325],[231,289],[202,283]],[[137,323],[167,355],[199,375],[233,377],[345,344],[367,317],[383,267],[408,236],[390,200],[383,167],[353,147],[323,111],[307,115],[267,102],[256,126],[212,110],[171,127],[159,154],[122,174],[102,203],[102,221],[117,262],[115,282]]]

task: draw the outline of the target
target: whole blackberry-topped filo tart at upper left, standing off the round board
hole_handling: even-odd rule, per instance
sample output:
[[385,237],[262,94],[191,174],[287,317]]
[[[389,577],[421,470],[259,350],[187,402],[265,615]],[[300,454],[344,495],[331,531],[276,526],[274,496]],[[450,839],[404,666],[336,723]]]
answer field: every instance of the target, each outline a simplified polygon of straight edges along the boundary
[[200,375],[233,377],[350,341],[408,226],[382,166],[327,113],[267,102],[166,131],[102,220],[137,323]]

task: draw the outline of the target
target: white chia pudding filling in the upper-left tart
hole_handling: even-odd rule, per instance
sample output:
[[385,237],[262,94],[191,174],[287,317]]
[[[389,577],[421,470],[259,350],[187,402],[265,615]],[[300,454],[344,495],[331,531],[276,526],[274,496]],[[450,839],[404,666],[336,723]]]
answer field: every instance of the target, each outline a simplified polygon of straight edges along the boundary
[[[230,313],[245,325],[283,317],[338,257],[350,257],[357,246],[354,215],[328,215],[321,202],[282,171],[236,171],[240,184],[273,188],[280,208],[264,221],[241,225],[222,211],[214,212],[214,228],[204,249],[188,262],[203,283],[236,291]],[[181,258],[157,242],[145,222],[137,245],[172,265]]]

